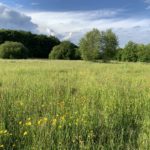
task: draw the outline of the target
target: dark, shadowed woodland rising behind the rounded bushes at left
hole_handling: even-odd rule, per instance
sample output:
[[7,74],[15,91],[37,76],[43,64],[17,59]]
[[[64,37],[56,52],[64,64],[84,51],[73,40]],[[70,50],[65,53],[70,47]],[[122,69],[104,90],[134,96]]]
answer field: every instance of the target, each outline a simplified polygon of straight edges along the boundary
[[30,58],[48,58],[52,48],[60,43],[53,36],[37,35],[25,31],[0,30],[0,44],[5,41],[24,44],[29,50]]

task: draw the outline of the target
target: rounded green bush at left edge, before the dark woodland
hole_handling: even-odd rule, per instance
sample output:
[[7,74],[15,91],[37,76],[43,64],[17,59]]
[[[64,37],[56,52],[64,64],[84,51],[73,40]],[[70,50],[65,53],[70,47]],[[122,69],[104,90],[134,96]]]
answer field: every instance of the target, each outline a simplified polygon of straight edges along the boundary
[[21,59],[27,58],[27,48],[19,42],[6,41],[0,45],[0,58]]

